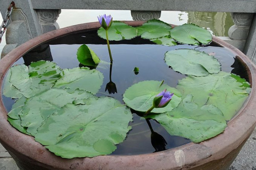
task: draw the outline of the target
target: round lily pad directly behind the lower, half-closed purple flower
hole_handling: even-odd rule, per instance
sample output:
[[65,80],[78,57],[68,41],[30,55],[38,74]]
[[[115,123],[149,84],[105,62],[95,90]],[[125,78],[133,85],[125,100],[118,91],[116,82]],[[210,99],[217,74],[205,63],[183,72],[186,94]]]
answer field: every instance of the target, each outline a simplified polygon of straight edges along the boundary
[[151,113],[172,111],[173,108],[176,108],[177,105],[179,105],[181,101],[181,94],[177,89],[171,88],[169,85],[160,85],[161,82],[154,80],[134,84],[126,89],[123,94],[123,101],[128,107],[135,111],[145,112],[151,108],[154,97],[164,89],[167,89],[167,91],[174,93],[171,102],[169,102],[169,104],[164,108],[154,108]]

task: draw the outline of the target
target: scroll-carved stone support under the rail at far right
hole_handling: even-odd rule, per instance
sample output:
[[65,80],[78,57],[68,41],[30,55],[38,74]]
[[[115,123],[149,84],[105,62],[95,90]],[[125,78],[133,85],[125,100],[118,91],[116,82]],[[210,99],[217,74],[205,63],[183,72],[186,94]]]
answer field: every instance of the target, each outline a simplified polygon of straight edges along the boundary
[[231,13],[235,25],[231,26],[228,35],[232,40],[246,40],[253,20],[252,13]]

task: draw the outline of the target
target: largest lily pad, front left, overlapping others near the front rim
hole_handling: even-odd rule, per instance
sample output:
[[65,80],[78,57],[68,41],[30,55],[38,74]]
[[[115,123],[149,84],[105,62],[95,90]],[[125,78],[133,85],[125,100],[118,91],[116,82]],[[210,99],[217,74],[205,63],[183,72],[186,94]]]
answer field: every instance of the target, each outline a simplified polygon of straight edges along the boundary
[[55,112],[35,140],[63,158],[106,155],[125,139],[131,120],[130,110],[118,100],[90,97],[85,105],[67,104]]

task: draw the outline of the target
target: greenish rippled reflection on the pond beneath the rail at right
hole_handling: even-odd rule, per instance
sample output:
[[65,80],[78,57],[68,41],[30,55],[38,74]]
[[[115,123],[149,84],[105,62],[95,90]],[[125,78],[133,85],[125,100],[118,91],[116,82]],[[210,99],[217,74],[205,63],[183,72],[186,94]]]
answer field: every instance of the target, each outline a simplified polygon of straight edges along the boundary
[[228,30],[234,25],[229,12],[187,12],[187,23],[206,28],[215,36],[228,37]]

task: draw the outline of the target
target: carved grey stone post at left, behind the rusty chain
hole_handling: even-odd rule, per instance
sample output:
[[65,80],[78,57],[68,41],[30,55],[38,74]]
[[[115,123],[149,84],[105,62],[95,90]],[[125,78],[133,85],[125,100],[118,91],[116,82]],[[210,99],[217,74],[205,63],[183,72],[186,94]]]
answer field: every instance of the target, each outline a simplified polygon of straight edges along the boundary
[[[12,0],[2,0],[0,12],[5,15]],[[35,10],[31,0],[15,0],[15,8],[10,16],[10,24],[6,29],[6,45],[1,58],[18,45],[45,32],[58,29],[56,20],[60,10]]]

